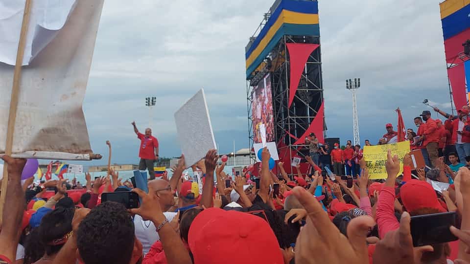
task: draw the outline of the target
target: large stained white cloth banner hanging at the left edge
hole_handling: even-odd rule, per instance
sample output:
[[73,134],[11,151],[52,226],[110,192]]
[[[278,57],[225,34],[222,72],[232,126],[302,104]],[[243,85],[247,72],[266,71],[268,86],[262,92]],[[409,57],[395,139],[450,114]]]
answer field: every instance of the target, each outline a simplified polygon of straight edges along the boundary
[[[24,6],[24,1],[7,2]],[[82,102],[87,88],[103,0],[79,0],[74,4],[74,8],[71,8],[73,1],[70,0],[48,1],[48,6],[44,6],[46,2],[33,1],[32,15],[47,14],[48,17],[44,17],[45,23],[59,24],[64,22],[62,19],[65,17],[58,19],[49,15],[57,14],[59,9],[67,5],[69,10],[63,14],[68,15],[68,19],[63,26],[54,26],[54,30],[60,29],[58,32],[50,30],[50,27],[28,28],[28,36],[33,34],[35,39],[32,51],[24,56],[24,64],[32,60],[27,67],[22,68],[21,73],[13,156],[45,158],[45,153],[49,157],[51,153],[56,153],[56,157],[62,157],[61,159],[64,159],[66,154],[77,154],[76,157],[72,155],[70,159],[83,159],[80,155],[88,156],[92,153]],[[3,23],[11,22],[8,29],[14,28],[14,35],[20,36],[23,8],[17,10],[13,6],[9,6],[10,9],[4,4],[0,6],[0,28],[5,29],[2,27]],[[13,11],[14,16],[2,16],[8,11]],[[30,22],[38,20],[40,17],[32,17]],[[49,39],[50,34],[54,35],[53,39],[45,43],[39,41],[43,38]],[[8,38],[6,35],[0,36],[0,49],[3,50],[5,42],[13,41]],[[14,45],[18,46],[18,42]],[[41,45],[44,45],[44,48]],[[26,52],[30,48],[27,47]],[[11,54],[16,57],[16,50]],[[14,66],[0,63],[0,153],[5,151],[13,72]]]

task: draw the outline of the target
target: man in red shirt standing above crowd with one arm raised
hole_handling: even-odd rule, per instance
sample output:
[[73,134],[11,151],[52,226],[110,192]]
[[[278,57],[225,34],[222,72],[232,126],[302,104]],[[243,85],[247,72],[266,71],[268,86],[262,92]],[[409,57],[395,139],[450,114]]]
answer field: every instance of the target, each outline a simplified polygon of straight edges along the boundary
[[140,133],[137,129],[136,122],[132,122],[134,127],[134,132],[136,132],[137,137],[141,140],[141,148],[139,150],[139,157],[141,161],[139,162],[139,170],[145,171],[148,170],[150,179],[155,179],[155,172],[153,171],[153,163],[159,158],[158,156],[158,140],[152,136],[152,130],[147,128],[145,129],[145,135]]

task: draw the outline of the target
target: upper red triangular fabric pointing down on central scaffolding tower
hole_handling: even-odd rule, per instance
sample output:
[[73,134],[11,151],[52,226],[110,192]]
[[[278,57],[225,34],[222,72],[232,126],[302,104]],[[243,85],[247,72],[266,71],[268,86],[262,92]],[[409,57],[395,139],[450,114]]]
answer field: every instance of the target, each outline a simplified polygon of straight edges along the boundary
[[305,68],[308,56],[320,45],[287,43],[290,58],[290,86],[289,86],[289,108],[294,100],[295,92],[299,87],[300,77]]

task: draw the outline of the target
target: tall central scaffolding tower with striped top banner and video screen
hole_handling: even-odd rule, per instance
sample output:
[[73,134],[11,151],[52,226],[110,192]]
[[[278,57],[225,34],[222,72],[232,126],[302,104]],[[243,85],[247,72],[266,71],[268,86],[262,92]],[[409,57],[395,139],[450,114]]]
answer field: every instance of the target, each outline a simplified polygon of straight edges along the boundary
[[290,174],[305,137],[325,137],[318,1],[276,0],[245,51],[250,147],[277,142]]

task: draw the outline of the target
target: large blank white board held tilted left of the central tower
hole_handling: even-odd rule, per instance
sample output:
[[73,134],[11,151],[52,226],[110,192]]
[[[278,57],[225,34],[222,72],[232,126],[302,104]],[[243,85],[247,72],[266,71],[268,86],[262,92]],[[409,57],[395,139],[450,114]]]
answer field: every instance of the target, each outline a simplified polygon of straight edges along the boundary
[[217,148],[204,89],[176,111],[175,123],[186,168],[204,158],[209,150]]

